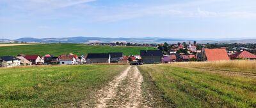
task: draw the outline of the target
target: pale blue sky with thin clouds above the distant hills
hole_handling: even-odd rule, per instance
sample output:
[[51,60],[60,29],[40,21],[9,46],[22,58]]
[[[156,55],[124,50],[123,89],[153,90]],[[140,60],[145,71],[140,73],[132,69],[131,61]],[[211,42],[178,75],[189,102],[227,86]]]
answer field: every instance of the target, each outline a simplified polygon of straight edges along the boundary
[[0,0],[0,37],[256,38],[255,0]]

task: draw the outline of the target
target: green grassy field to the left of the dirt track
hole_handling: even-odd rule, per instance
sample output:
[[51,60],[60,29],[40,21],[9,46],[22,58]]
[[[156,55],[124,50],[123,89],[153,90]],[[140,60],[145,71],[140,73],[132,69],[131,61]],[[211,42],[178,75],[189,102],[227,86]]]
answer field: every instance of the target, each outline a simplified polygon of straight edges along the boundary
[[0,69],[0,107],[77,107],[125,65],[67,65]]

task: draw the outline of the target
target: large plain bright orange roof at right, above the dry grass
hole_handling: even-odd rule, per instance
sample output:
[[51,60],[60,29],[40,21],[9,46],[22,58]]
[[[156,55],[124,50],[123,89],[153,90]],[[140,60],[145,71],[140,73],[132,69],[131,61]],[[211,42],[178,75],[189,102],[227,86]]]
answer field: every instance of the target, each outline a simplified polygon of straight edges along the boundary
[[221,48],[208,49],[205,48],[205,55],[207,57],[207,61],[220,61],[220,60],[229,60],[227,51]]

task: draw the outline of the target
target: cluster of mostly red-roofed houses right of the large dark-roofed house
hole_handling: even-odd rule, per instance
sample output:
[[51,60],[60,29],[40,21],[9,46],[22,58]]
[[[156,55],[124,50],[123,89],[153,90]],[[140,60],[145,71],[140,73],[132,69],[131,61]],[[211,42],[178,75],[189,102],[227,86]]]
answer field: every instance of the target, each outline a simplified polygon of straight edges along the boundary
[[256,59],[253,53],[250,53],[245,50],[241,51],[227,51],[226,47],[220,48],[204,48],[202,46],[198,50],[196,46],[196,41],[194,43],[186,44],[158,44],[157,48],[163,51],[163,63],[170,62],[189,62],[189,61],[220,61],[220,60],[235,60],[235,59],[247,59],[254,60]]

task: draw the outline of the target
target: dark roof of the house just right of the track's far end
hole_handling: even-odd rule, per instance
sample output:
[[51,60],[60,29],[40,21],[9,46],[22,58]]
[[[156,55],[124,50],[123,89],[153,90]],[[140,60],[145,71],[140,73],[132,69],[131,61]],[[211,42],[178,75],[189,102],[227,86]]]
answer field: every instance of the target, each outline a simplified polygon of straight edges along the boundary
[[163,57],[163,53],[160,50],[141,50],[141,57]]

